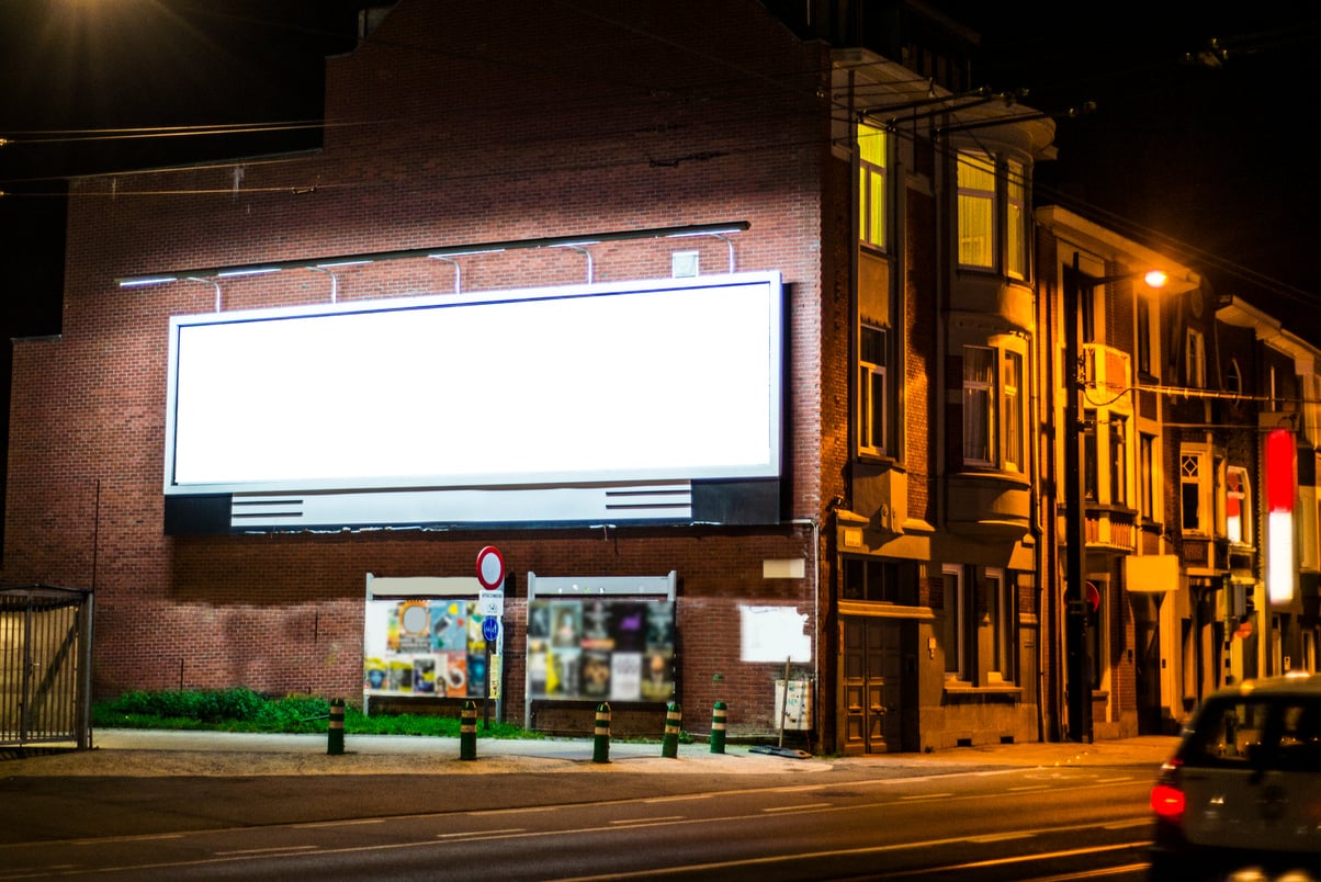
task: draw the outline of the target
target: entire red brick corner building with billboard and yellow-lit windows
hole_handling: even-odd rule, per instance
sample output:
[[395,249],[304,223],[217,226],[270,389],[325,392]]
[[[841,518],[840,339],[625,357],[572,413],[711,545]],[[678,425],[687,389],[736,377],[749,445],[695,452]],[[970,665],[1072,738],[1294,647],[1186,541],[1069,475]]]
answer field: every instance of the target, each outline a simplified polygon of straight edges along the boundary
[[[320,151],[73,182],[3,577],[95,589],[99,695],[357,698],[373,640],[441,655],[493,545],[506,718],[659,718],[543,679],[633,595],[674,603],[686,729],[723,700],[771,737],[787,663],[827,749],[1041,737],[1049,120],[970,95],[964,37],[906,4],[856,44],[752,0],[515,5],[395,5],[328,62]],[[392,585],[425,630],[407,597],[375,621],[379,578],[423,580]],[[581,614],[557,662],[551,592]]]

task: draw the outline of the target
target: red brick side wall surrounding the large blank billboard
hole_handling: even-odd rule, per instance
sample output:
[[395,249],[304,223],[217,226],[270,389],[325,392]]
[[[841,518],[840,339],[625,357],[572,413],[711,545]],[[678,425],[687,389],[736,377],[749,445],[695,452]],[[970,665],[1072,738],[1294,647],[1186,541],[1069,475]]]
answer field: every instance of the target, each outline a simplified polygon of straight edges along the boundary
[[[838,333],[841,297],[832,289],[823,306],[823,50],[750,0],[597,12],[406,0],[366,45],[329,62],[324,151],[71,185],[63,334],[15,353],[0,577],[96,589],[98,695],[242,684],[354,696],[365,573],[468,576],[494,541],[518,576],[678,570],[684,701],[703,716],[728,701],[731,731],[771,724],[777,673],[740,664],[737,607],[811,611],[818,555],[806,524],[162,535],[168,320],[211,312],[217,289],[120,289],[116,279],[733,220],[750,224],[734,236],[738,271],[777,269],[786,281],[783,516],[819,514],[823,458],[827,489],[841,461],[839,445],[823,450],[822,424],[843,424],[841,378],[830,378],[823,405],[820,370],[824,322]],[[676,250],[699,251],[704,272],[729,259],[709,238],[608,243],[593,247],[594,279],[668,276]],[[542,287],[584,281],[585,260],[506,252],[465,257],[460,271],[464,290]],[[339,300],[444,293],[454,272],[417,259],[342,268],[334,284]],[[219,298],[226,312],[326,302],[330,285],[322,272],[285,271],[222,280]],[[446,379],[480,382],[480,366]],[[269,382],[299,393],[297,376]],[[764,580],[768,557],[803,557],[807,577]],[[520,660],[509,665],[506,683],[520,689]]]

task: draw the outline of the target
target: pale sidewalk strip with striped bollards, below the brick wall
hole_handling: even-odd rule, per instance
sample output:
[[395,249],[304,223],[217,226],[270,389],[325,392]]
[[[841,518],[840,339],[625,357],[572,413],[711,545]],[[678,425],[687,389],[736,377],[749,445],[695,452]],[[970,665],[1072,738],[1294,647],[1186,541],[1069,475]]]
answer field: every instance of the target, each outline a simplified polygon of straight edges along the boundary
[[[713,754],[707,743],[679,745],[664,757],[655,742],[610,741],[608,762],[594,762],[592,738],[495,739],[478,733],[476,759],[460,759],[457,738],[403,735],[345,737],[343,754],[329,754],[325,735],[250,734],[99,729],[92,749],[57,751],[30,747],[21,758],[0,759],[0,776],[123,775],[383,775],[547,771],[654,771],[667,774],[811,774],[851,767],[911,766],[1145,766],[1155,771],[1177,739],[1145,735],[1090,745],[1015,743],[954,747],[929,754],[799,757],[727,745]],[[13,757],[13,754],[0,754]]]

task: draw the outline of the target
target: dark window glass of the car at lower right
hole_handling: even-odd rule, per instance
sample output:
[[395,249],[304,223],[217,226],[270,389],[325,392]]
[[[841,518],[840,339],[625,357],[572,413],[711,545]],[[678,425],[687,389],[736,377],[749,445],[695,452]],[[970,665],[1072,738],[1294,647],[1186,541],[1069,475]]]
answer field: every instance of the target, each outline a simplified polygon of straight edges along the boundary
[[1321,700],[1240,696],[1209,701],[1181,759],[1188,766],[1321,771]]

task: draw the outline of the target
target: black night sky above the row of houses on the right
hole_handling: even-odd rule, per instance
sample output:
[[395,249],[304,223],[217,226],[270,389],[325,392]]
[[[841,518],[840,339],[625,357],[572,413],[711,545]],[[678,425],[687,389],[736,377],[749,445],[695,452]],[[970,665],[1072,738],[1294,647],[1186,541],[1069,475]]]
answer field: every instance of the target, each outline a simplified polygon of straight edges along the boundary
[[[951,5],[978,17],[1000,4]],[[972,22],[996,91],[1026,87],[1050,112],[1096,104],[1058,119],[1036,202],[1174,250],[1215,293],[1306,322],[1321,343],[1321,187],[1308,170],[1321,4],[1089,5],[1055,4],[1030,26]]]

